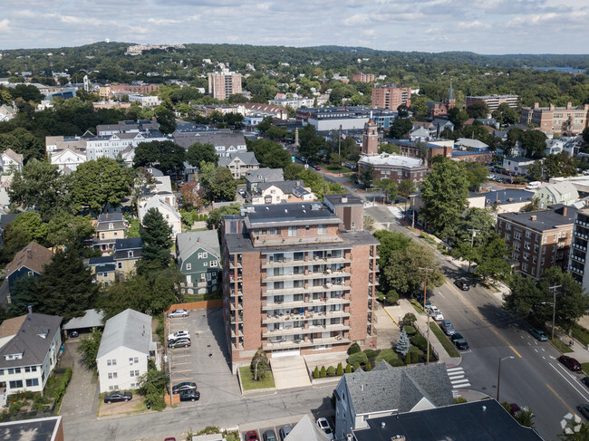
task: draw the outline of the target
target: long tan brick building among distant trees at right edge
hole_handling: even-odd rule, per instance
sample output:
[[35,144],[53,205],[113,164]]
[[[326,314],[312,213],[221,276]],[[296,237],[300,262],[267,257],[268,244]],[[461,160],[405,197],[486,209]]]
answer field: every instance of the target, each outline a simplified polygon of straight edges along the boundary
[[522,124],[532,122],[547,135],[552,133],[577,135],[589,127],[589,104],[573,107],[573,104],[568,102],[566,107],[555,107],[554,104],[540,107],[536,102],[534,107],[522,108],[519,122]]

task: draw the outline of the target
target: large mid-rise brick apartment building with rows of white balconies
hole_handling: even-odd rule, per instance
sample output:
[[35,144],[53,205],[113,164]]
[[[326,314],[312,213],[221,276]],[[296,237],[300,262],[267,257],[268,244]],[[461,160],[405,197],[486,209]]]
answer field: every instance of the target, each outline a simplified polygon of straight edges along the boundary
[[[246,206],[223,217],[223,312],[234,372],[269,357],[375,348],[378,241],[362,200]],[[340,218],[336,216],[338,213]]]

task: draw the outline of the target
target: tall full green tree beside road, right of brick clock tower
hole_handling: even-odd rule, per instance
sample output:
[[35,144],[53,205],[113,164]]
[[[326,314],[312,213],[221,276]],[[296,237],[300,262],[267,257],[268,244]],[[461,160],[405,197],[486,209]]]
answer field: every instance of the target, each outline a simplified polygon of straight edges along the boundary
[[431,227],[448,235],[467,207],[468,179],[464,165],[443,158],[421,183],[423,215]]

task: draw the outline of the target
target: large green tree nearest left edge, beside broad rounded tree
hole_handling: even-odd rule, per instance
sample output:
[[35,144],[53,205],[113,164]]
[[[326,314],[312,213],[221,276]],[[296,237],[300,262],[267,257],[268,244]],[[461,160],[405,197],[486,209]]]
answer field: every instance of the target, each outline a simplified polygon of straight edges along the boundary
[[23,171],[14,173],[8,195],[12,203],[35,208],[47,220],[54,212],[68,206],[69,181],[57,166],[32,159],[24,165]]

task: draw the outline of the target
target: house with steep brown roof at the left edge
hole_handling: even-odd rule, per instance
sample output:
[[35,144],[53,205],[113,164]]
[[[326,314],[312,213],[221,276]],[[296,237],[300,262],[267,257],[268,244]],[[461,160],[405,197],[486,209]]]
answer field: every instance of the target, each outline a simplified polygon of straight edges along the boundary
[[10,292],[14,283],[21,277],[39,277],[43,266],[51,263],[53,253],[43,245],[31,242],[14,255],[10,264],[6,264],[5,282],[0,288],[0,303],[10,303]]

